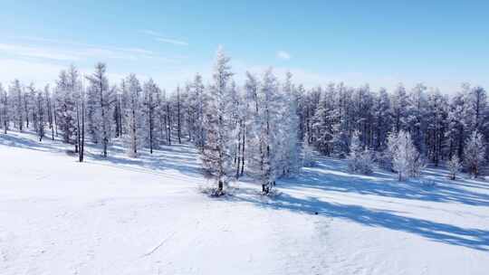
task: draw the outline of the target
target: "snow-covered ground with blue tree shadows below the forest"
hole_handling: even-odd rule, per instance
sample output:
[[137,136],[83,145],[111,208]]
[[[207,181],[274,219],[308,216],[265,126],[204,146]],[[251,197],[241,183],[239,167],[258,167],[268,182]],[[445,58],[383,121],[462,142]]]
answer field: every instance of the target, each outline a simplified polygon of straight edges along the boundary
[[352,175],[320,158],[258,194],[199,193],[197,153],[85,163],[59,141],[0,134],[0,274],[487,274],[489,183]]

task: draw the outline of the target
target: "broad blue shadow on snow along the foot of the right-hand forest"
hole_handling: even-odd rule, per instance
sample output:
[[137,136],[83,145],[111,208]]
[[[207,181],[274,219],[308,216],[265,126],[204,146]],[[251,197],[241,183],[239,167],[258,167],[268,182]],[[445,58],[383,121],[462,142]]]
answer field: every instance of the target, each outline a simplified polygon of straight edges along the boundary
[[426,179],[434,185],[423,185],[417,181],[398,182],[397,175],[379,170],[373,175],[352,174],[344,162],[324,158],[315,167],[303,168],[300,177],[283,179],[281,184],[291,189],[312,188],[325,192],[374,194],[427,202],[489,206],[489,194],[464,188],[470,185],[472,188],[485,189],[484,182],[467,183],[464,179],[450,181],[443,174],[428,176]]

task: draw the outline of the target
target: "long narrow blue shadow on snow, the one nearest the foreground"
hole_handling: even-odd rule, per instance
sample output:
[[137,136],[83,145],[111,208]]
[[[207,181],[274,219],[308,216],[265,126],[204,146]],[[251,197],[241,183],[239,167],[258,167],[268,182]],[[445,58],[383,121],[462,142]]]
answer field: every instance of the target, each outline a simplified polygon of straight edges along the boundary
[[258,207],[277,211],[287,210],[297,213],[319,214],[367,226],[409,232],[434,242],[444,242],[479,251],[489,251],[489,231],[406,217],[388,210],[370,209],[353,204],[333,204],[321,201],[316,197],[298,198],[289,194],[280,194],[270,200],[264,200],[256,195],[237,195],[229,198],[229,200],[244,201],[256,204]]

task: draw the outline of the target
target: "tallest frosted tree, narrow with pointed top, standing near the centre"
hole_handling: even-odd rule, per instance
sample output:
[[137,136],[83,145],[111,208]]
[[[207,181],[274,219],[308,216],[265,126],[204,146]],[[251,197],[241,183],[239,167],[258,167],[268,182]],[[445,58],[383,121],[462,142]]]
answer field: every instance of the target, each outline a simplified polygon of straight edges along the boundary
[[227,184],[227,175],[232,167],[231,152],[234,147],[230,130],[234,127],[231,118],[230,59],[222,48],[216,52],[213,72],[213,84],[209,87],[209,100],[206,108],[204,128],[206,145],[202,153],[202,163],[206,170],[216,177],[215,195],[223,194]]

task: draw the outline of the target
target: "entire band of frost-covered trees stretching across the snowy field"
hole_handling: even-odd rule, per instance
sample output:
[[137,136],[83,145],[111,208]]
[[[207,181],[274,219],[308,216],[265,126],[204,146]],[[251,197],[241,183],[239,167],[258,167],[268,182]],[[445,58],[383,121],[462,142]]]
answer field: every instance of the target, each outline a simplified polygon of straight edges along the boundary
[[212,80],[197,74],[167,95],[155,81],[141,83],[130,74],[110,83],[107,67],[96,64],[82,76],[71,66],[53,88],[13,81],[0,85],[0,127],[60,136],[82,161],[87,141],[110,155],[115,138],[129,156],[141,148],[152,153],[163,145],[192,142],[206,172],[222,194],[232,177],[259,179],[265,194],[275,179],[313,166],[312,149],[326,156],[347,157],[352,171],[368,174],[372,162],[398,173],[402,180],[427,165],[447,163],[451,175],[463,165],[478,175],[487,156],[489,109],[481,87],[462,85],[455,95],[417,84],[391,92],[351,88],[343,83],[306,90],[279,81],[272,69],[247,72],[243,86],[234,81],[230,58],[219,49]]

